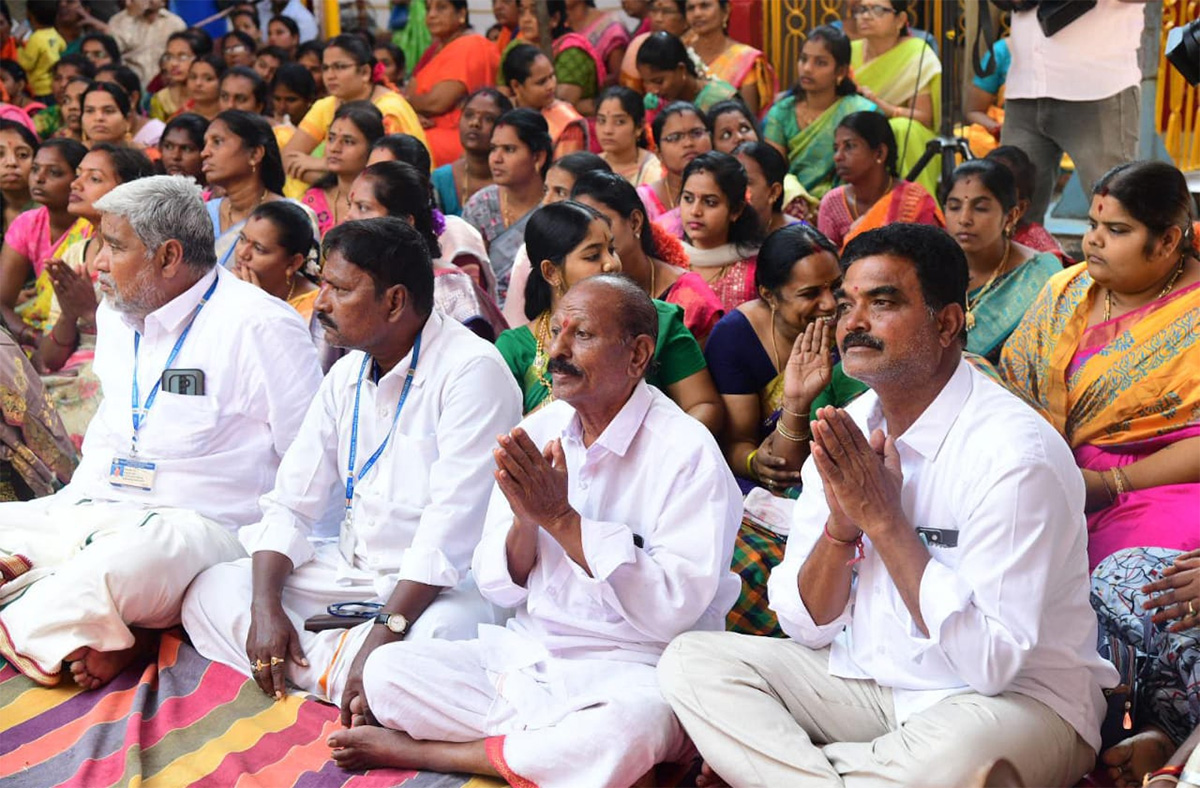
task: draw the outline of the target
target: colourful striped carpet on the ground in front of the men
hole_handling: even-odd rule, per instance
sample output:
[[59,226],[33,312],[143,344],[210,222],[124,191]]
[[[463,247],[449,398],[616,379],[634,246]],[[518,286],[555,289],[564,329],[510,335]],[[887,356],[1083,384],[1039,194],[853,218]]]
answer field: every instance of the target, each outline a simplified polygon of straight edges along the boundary
[[491,788],[463,776],[334,765],[325,739],[337,710],[313,699],[274,703],[240,673],[209,662],[179,634],[156,663],[83,692],[44,688],[0,668],[0,784],[230,786],[251,788]]

